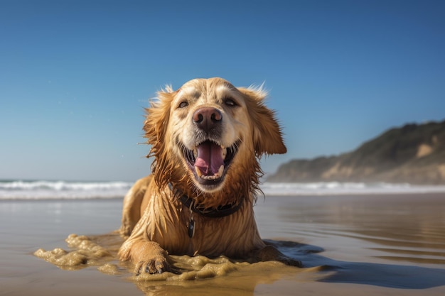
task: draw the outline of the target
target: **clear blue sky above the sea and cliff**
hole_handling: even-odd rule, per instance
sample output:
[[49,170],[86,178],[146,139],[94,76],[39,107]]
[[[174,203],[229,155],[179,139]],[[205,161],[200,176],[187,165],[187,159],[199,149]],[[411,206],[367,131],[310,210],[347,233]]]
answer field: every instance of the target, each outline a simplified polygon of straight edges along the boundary
[[149,173],[149,98],[262,84],[292,158],[445,119],[445,1],[0,1],[0,178]]

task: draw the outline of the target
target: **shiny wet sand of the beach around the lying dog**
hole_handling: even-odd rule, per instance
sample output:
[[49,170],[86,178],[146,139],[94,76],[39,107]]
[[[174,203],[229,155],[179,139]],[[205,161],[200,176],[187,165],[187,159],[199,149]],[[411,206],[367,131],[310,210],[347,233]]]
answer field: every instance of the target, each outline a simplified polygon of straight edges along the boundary
[[[213,268],[198,280],[132,278],[114,258],[121,207],[120,199],[0,202],[0,295],[445,295],[445,194],[260,197],[263,239],[305,268],[176,258],[199,265],[193,275]],[[76,251],[69,234],[111,256],[69,268],[33,255]]]

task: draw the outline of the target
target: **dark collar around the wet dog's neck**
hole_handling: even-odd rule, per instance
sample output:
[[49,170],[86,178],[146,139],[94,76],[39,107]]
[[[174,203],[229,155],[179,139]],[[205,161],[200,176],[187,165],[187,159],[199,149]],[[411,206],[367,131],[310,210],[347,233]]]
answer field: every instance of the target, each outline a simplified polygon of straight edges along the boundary
[[[168,187],[175,194],[179,192],[179,190],[173,189],[173,185],[171,185],[171,183],[168,183]],[[203,206],[200,206],[200,204],[195,204],[195,201],[186,194],[182,194],[181,197],[179,197],[179,200],[184,206],[188,207],[188,209],[191,209],[193,212],[207,218],[222,218],[225,216],[230,216],[231,214],[237,212],[241,208],[242,202],[244,202],[244,199],[241,199],[241,202],[238,204],[226,204],[225,206],[219,206],[216,209],[205,209]]]

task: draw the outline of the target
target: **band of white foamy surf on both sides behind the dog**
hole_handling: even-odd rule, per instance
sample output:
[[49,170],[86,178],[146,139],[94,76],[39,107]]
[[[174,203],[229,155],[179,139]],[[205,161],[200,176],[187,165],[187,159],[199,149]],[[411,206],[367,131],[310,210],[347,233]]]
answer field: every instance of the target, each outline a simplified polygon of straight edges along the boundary
[[[122,198],[133,182],[74,182],[64,180],[0,180],[2,199],[113,199]],[[419,194],[445,192],[445,185],[407,183],[311,182],[270,183],[260,186],[266,196],[338,194]]]

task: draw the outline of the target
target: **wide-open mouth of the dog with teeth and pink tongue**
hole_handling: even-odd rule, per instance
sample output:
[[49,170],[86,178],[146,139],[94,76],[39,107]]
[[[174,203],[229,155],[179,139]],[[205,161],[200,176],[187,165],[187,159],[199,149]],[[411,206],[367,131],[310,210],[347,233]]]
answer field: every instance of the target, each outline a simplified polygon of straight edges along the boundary
[[222,182],[239,144],[236,142],[230,147],[224,147],[213,141],[204,141],[193,150],[186,150],[186,162],[195,179],[202,185]]

